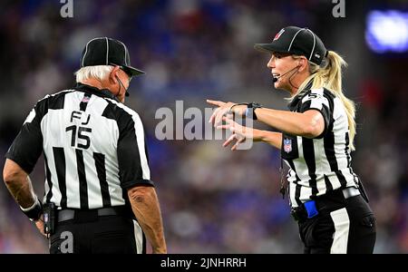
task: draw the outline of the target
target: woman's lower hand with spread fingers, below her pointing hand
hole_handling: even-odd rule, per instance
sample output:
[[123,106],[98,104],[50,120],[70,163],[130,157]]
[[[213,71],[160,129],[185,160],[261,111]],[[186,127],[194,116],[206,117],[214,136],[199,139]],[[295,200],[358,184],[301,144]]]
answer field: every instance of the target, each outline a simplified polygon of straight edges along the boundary
[[222,144],[223,147],[227,147],[231,142],[236,141],[236,143],[231,148],[231,151],[236,151],[238,145],[241,142],[244,142],[247,139],[254,138],[253,129],[241,126],[240,124],[238,124],[238,122],[233,121],[232,119],[229,119],[227,117],[224,117],[222,120],[226,121],[227,124],[219,125],[217,126],[217,129],[229,130],[232,132],[232,135],[228,138],[228,140]]

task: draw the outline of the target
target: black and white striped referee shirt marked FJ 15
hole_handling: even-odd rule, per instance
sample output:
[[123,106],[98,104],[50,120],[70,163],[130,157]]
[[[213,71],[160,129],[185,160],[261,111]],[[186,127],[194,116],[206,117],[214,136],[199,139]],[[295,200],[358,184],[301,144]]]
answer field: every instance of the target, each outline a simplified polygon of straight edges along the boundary
[[126,189],[153,186],[141,119],[107,90],[78,83],[37,102],[5,156],[30,173],[42,151],[44,202],[62,209],[128,205]]

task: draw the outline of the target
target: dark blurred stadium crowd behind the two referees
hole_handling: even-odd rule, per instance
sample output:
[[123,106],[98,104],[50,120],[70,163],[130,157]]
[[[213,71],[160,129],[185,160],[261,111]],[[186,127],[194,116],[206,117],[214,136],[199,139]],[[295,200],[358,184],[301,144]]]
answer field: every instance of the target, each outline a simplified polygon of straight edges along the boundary
[[[407,253],[407,52],[374,53],[364,39],[370,10],[406,12],[405,2],[345,0],[345,18],[335,18],[329,0],[73,0],[73,18],[62,18],[58,0],[2,1],[1,157],[34,103],[73,85],[83,44],[118,38],[147,72],[131,82],[127,104],[148,134],[169,252],[300,253],[278,193],[277,151],[262,143],[233,154],[220,151],[222,141],[158,141],[154,131],[155,111],[176,100],[185,109],[204,109],[207,98],[285,109],[286,94],[271,88],[268,56],[253,44],[285,25],[308,26],[349,63],[345,92],[358,106],[353,162],[378,220],[375,252]],[[31,177],[42,193],[42,161]],[[45,252],[46,241],[1,182],[0,253]]]

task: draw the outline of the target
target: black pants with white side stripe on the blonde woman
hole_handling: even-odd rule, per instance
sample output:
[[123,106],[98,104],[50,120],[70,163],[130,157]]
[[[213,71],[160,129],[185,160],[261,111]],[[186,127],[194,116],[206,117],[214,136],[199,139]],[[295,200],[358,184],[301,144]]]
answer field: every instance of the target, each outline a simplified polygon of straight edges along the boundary
[[375,244],[373,211],[361,195],[332,194],[316,201],[319,214],[299,222],[305,254],[371,254]]

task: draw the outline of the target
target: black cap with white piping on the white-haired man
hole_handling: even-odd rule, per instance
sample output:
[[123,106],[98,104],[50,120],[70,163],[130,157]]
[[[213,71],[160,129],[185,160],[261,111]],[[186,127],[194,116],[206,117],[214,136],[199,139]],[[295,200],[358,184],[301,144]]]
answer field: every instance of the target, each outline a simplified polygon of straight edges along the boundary
[[121,66],[121,70],[129,76],[144,73],[131,66],[131,57],[126,45],[108,37],[94,38],[83,48],[81,67],[94,65]]

